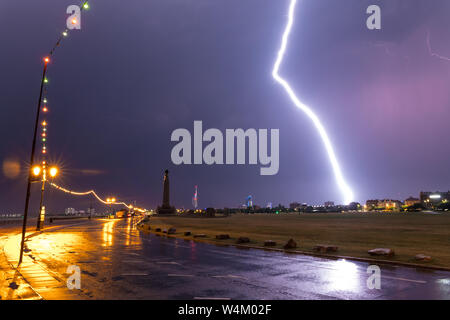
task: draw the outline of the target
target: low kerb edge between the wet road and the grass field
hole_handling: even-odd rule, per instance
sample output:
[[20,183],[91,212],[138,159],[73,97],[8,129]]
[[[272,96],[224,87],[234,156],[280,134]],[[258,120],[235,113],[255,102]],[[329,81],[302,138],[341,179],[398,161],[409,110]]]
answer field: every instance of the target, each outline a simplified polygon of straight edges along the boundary
[[237,244],[237,243],[221,243],[220,241],[216,241],[215,238],[205,239],[205,238],[194,238],[193,235],[191,235],[191,236],[182,236],[182,235],[177,235],[177,234],[168,235],[168,234],[162,233],[162,232],[155,232],[153,230],[147,230],[147,229],[142,228],[141,226],[137,226],[137,229],[142,232],[152,233],[152,234],[156,234],[156,235],[160,235],[160,236],[165,236],[168,238],[192,240],[192,241],[204,242],[204,243],[222,245],[222,246],[233,246],[233,247],[237,247],[237,248],[259,249],[259,250],[277,251],[277,252],[292,253],[292,254],[302,254],[302,255],[313,256],[313,257],[318,257],[318,258],[325,258],[325,259],[332,259],[332,260],[346,259],[346,260],[353,260],[353,261],[359,261],[359,262],[369,262],[369,263],[373,263],[373,264],[388,264],[388,265],[402,266],[402,267],[409,267],[409,268],[416,268],[416,269],[428,269],[428,270],[449,271],[450,272],[450,268],[439,267],[439,266],[427,266],[427,265],[402,262],[402,261],[391,261],[391,260],[380,260],[380,259],[372,259],[372,258],[331,255],[331,254],[315,253],[315,252],[309,252],[309,251],[303,251],[303,250],[290,250],[290,249],[261,247],[261,246],[257,246],[257,245],[246,245],[246,244]]

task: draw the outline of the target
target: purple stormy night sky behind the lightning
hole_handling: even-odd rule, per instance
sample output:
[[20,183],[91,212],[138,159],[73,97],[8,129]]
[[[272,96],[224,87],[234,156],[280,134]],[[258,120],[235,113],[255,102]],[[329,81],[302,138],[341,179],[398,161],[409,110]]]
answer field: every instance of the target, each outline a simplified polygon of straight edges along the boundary
[[[21,212],[41,59],[77,1],[0,3],[0,177],[3,212]],[[366,8],[382,29],[366,28]],[[340,202],[311,121],[272,78],[289,0],[90,2],[49,66],[49,159],[58,183],[102,196],[191,207]],[[281,74],[322,120],[357,201],[450,189],[450,1],[299,0]],[[429,40],[429,41],[427,41]],[[428,45],[430,44],[430,46]],[[446,59],[445,56],[449,58]],[[280,129],[280,170],[172,164],[177,128]],[[5,166],[4,166],[5,167]],[[38,186],[33,186],[34,206]],[[47,192],[48,206],[89,198]],[[37,204],[35,205],[37,208]],[[34,208],[34,207],[32,207]],[[100,207],[99,207],[100,208]],[[34,214],[34,213],[33,213]]]

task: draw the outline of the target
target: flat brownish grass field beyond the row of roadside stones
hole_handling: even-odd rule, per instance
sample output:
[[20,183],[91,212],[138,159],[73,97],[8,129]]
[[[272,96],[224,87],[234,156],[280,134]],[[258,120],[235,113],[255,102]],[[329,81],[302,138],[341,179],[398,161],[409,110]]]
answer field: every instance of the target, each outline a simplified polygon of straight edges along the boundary
[[[264,240],[277,241],[277,247],[293,238],[298,250],[312,251],[316,244],[339,247],[338,255],[369,258],[367,250],[391,248],[395,257],[381,258],[416,263],[419,253],[433,260],[422,262],[450,268],[450,213],[314,213],[253,214],[224,218],[151,217],[151,228],[177,229],[204,233],[208,241],[233,244],[240,236],[249,237],[252,245],[262,246]],[[216,240],[215,235],[227,233],[229,240]],[[192,237],[188,237],[192,238]],[[419,262],[420,263],[420,262]]]

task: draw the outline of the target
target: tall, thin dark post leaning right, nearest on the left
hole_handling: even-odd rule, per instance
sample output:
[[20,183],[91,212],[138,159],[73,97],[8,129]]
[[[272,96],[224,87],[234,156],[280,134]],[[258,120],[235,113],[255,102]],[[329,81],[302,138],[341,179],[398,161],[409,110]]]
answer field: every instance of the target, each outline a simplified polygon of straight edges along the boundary
[[49,62],[50,62],[50,59],[48,57],[45,57],[44,58],[44,70],[42,71],[41,89],[39,92],[39,101],[38,101],[37,112],[36,112],[36,121],[34,124],[33,142],[31,144],[30,170],[28,172],[27,193],[25,196],[25,208],[24,208],[24,212],[23,212],[22,241],[20,243],[19,265],[22,263],[23,248],[25,245],[25,233],[26,233],[26,229],[27,229],[28,206],[30,204],[30,193],[31,193],[31,174],[32,174],[31,168],[33,167],[33,164],[34,164],[34,152],[36,150],[36,136],[37,136],[37,129],[39,126],[39,114],[41,111],[42,91],[44,88],[45,74],[47,73],[47,64]]

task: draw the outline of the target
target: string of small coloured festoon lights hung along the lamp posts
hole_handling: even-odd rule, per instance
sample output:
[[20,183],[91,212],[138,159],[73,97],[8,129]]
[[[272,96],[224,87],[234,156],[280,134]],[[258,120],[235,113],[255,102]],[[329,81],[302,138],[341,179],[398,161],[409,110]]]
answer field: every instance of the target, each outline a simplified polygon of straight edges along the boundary
[[[80,6],[80,12],[82,12],[83,10],[87,10],[89,9],[89,3],[88,1],[82,1]],[[72,18],[72,20],[70,21],[70,23],[72,23],[73,25],[77,25],[79,23],[79,21],[77,21],[76,18]],[[53,54],[55,53],[56,49],[61,45],[62,41],[67,38],[67,36],[69,35],[70,29],[66,28],[61,32],[60,36],[58,37],[58,40],[56,41],[55,45],[53,46],[53,48],[50,50],[50,53],[48,56],[46,56],[44,58],[44,63],[47,66],[50,61],[51,61],[51,57],[53,56]],[[47,166],[47,155],[48,155],[48,121],[47,121],[47,114],[49,112],[49,103],[48,103],[48,84],[49,84],[49,80],[47,79],[47,77],[44,77],[44,88],[43,88],[43,98],[42,98],[42,108],[41,111],[44,115],[43,120],[40,122],[41,125],[41,167],[45,172],[46,166]],[[45,179],[45,178],[44,178]],[[55,184],[53,181],[47,181],[49,185],[51,185],[52,187],[54,187],[55,189],[71,194],[71,195],[75,195],[75,196],[87,196],[87,195],[93,195],[99,202],[106,204],[106,205],[123,205],[125,206],[127,209],[133,209],[134,211],[137,212],[146,212],[146,209],[142,209],[142,208],[138,208],[135,207],[131,204],[126,204],[125,202],[119,202],[116,201],[115,198],[107,198],[107,199],[102,199],[94,190],[89,190],[86,192],[77,192],[77,191],[73,191],[73,190],[69,190],[66,188],[63,188],[57,184]]]

